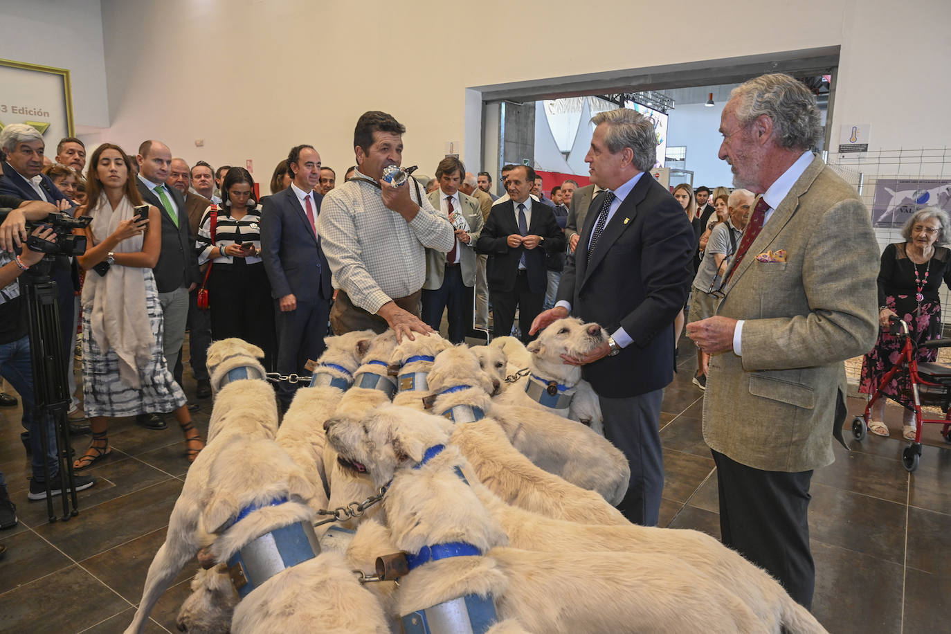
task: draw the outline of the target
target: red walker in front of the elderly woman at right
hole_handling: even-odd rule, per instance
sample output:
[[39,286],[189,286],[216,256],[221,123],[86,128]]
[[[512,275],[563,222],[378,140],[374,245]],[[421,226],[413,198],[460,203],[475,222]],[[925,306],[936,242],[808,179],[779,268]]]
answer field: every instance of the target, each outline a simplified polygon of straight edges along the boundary
[[[852,435],[856,440],[864,440],[868,432],[868,418],[872,411],[872,405],[879,398],[888,397],[883,394],[883,387],[888,385],[898,372],[906,368],[911,380],[912,402],[915,405],[915,440],[902,451],[902,465],[907,471],[913,472],[918,469],[918,463],[922,458],[922,424],[943,425],[941,435],[944,436],[944,440],[951,442],[951,366],[941,365],[941,363],[919,363],[916,359],[916,353],[919,347],[947,348],[951,346],[951,338],[932,339],[922,344],[916,344],[908,336],[907,323],[898,317],[891,317],[891,321],[891,334],[904,336],[902,356],[895,367],[883,376],[879,388],[875,391],[875,394],[872,394],[868,404],[865,405],[864,415],[856,416],[852,420]],[[922,405],[940,407],[944,417],[924,418]]]

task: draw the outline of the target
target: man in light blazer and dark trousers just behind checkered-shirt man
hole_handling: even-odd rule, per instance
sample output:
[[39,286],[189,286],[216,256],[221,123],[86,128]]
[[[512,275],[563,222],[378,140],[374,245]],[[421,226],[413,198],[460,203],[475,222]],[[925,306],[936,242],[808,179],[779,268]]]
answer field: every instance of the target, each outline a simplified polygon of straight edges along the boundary
[[[436,168],[439,188],[427,194],[433,208],[454,221],[456,243],[449,253],[426,249],[426,281],[422,285],[422,320],[439,332],[443,311],[449,311],[449,340],[462,343],[473,325],[476,284],[476,240],[482,233],[479,202],[459,191],[466,168],[446,157]],[[461,218],[465,221],[464,226]],[[462,228],[459,228],[459,227]]]

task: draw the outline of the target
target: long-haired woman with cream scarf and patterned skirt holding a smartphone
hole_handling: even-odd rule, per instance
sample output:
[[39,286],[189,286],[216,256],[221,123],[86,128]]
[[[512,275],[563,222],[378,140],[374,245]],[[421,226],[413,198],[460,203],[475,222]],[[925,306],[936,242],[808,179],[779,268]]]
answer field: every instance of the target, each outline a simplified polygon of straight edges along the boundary
[[[159,259],[159,211],[144,205],[126,153],[102,144],[87,171],[88,204],[76,216],[91,216],[85,229],[87,271],[83,286],[83,395],[92,444],[73,463],[85,469],[111,450],[108,416],[172,412],[184,432],[189,462],[204,448],[191,424],[182,388],[165,365],[162,307],[152,268]],[[91,269],[91,271],[90,271]]]

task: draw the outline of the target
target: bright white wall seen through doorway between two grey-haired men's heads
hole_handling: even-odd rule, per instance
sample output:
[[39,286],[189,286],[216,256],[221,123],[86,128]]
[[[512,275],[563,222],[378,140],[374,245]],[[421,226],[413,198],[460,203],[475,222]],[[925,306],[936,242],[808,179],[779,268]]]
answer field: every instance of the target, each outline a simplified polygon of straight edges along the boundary
[[[667,145],[687,145],[687,163],[684,169],[693,172],[693,186],[733,186],[733,174],[729,165],[717,158],[723,137],[720,129],[720,114],[725,103],[707,107],[703,104],[676,106],[670,110],[667,125]],[[671,183],[677,184],[677,183]]]

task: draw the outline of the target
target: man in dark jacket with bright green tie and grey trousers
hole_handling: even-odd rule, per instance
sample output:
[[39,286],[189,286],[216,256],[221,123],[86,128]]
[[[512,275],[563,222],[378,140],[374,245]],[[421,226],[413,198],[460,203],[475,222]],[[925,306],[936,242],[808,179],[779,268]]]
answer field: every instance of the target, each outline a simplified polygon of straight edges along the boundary
[[[152,273],[162,305],[165,363],[169,368],[175,368],[188,320],[188,293],[198,286],[202,274],[198,270],[195,240],[188,225],[184,196],[178,189],[165,184],[172,163],[171,150],[160,141],[144,141],[139,146],[136,161],[139,163],[136,186],[142,201],[155,205],[162,216],[162,251]],[[181,386],[181,368],[178,370],[175,380]],[[165,420],[158,413],[140,414],[137,419],[148,429],[165,429]]]

